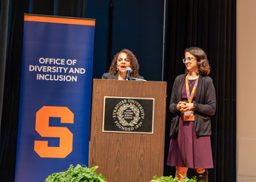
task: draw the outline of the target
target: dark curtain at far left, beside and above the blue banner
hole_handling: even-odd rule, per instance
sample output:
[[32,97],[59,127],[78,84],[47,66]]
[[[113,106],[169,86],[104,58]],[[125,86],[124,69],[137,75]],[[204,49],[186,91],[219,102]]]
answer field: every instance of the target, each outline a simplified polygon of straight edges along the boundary
[[0,123],[0,181],[13,182],[15,181],[15,156],[19,120],[24,14],[47,14],[85,18],[86,0],[7,0],[1,1],[0,5],[0,94],[3,95],[3,100],[0,100],[0,105],[3,105]]

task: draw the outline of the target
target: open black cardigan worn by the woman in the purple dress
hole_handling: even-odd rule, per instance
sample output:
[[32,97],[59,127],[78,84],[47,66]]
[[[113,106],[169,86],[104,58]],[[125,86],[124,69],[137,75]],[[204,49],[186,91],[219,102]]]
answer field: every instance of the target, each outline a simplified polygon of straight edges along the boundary
[[[169,110],[175,114],[171,120],[170,136],[175,137],[178,130],[180,111],[177,110],[177,103],[182,100],[182,89],[186,74],[177,76],[172,87],[172,96]],[[212,78],[200,76],[196,88],[195,102],[195,133],[199,136],[212,134],[211,116],[216,111],[216,96]]]

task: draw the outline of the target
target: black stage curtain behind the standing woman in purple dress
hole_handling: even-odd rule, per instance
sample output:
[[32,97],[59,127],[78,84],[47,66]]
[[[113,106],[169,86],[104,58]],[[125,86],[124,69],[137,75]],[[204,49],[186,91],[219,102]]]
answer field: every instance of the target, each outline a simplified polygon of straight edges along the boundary
[[[171,113],[168,112],[172,83],[184,73],[184,49],[200,47],[207,52],[217,94],[212,117],[211,182],[236,181],[236,0],[169,0],[166,6],[167,86],[166,157]],[[175,169],[165,165],[165,175]],[[189,176],[194,171],[189,170]]]

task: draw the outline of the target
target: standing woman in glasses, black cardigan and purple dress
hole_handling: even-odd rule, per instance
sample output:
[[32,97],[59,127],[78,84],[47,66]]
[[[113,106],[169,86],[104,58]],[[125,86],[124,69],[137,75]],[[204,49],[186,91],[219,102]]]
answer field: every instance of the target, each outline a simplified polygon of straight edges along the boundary
[[179,180],[194,168],[198,182],[208,181],[207,168],[213,168],[210,135],[211,116],[216,110],[215,88],[207,75],[211,67],[201,48],[186,48],[183,63],[186,74],[176,77],[169,110],[171,141],[167,165],[176,167]]

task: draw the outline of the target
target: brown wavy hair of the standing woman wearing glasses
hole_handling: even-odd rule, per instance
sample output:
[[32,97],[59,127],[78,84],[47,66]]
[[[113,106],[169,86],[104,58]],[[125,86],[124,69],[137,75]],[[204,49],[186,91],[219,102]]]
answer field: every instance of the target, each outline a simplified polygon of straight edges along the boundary
[[[198,65],[198,74],[208,75],[211,72],[211,66],[207,60],[207,54],[201,48],[191,47],[186,48],[184,54],[190,53],[195,56]],[[186,73],[188,70],[186,70]]]

